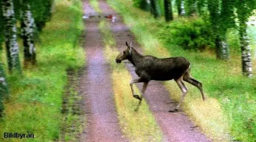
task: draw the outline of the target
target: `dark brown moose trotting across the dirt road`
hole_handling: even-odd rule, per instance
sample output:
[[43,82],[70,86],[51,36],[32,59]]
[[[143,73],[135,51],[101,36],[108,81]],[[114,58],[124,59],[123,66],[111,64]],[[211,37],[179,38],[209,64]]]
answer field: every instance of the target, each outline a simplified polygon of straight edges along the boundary
[[[126,46],[127,48],[123,51],[123,53],[116,57],[116,63],[121,63],[122,60],[127,59],[135,66],[135,72],[139,78],[132,79],[130,81],[130,87],[133,97],[140,100],[138,106],[140,106],[144,92],[150,80],[166,81],[173,79],[181,89],[182,97],[180,102],[175,108],[171,108],[169,112],[179,111],[180,104],[188,91],[188,88],[186,88],[183,81],[196,86],[202,94],[202,99],[205,100],[202,83],[195,80],[190,75],[190,62],[186,58],[157,58],[150,55],[143,56],[133,48],[132,42],[130,45],[128,45],[126,41]],[[144,83],[141,97],[134,94],[133,89],[133,84],[139,82]]]

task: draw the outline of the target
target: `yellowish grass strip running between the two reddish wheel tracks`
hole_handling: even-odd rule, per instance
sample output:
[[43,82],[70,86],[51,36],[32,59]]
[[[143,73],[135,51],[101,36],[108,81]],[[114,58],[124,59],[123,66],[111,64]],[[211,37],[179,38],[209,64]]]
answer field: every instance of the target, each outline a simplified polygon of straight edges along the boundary
[[[138,100],[132,97],[128,84],[132,76],[123,64],[119,65],[113,62],[119,52],[115,48],[116,43],[108,23],[100,22],[100,31],[104,40],[105,56],[112,69],[112,85],[122,132],[132,142],[161,142],[163,139],[162,132],[146,102],[142,101],[138,112],[134,111]],[[136,86],[134,86],[134,89],[139,92]],[[138,95],[140,94],[138,93]]]

